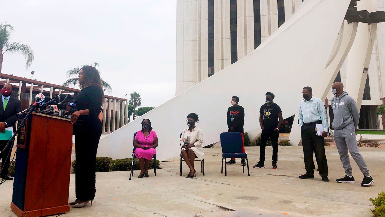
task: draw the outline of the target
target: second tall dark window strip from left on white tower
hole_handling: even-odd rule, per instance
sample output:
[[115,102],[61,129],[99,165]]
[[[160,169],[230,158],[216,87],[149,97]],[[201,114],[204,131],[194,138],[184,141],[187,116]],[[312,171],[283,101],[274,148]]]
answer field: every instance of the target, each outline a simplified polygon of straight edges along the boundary
[[230,0],[230,45],[231,64],[238,61],[237,40],[237,0]]

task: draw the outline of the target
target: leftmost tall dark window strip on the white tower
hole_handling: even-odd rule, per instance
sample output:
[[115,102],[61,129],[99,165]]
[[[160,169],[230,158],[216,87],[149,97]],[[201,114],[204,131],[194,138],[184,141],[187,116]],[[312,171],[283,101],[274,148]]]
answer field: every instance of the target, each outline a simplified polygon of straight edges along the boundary
[[214,0],[207,1],[207,29],[208,29],[208,77],[214,75]]

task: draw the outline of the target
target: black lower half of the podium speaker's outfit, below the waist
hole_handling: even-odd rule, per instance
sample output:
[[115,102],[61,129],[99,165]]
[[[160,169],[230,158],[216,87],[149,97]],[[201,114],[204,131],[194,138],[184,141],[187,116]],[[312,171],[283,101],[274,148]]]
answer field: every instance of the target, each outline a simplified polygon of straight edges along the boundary
[[[99,120],[99,119],[98,119]],[[92,126],[74,125],[75,132],[75,193],[80,201],[95,197],[96,153],[102,134],[102,123]]]

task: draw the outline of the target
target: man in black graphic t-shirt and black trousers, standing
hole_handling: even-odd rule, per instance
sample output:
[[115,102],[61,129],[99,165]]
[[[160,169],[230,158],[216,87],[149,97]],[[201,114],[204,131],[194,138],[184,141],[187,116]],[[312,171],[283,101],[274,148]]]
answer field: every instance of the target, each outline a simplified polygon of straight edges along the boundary
[[[264,155],[265,147],[268,139],[271,139],[271,144],[273,146],[273,169],[277,168],[278,161],[278,136],[279,129],[282,124],[282,111],[281,108],[273,103],[274,94],[267,92],[266,103],[261,106],[259,110],[259,124],[261,125],[262,134],[261,134],[261,143],[259,144],[259,162],[253,166],[253,168],[265,168],[264,166]],[[278,121],[279,119],[279,121]]]

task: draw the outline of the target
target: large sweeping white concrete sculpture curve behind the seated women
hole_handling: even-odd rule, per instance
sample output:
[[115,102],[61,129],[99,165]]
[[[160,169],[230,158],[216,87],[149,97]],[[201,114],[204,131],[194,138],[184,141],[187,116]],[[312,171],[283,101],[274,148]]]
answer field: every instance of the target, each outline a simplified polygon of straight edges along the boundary
[[304,86],[311,86],[321,97],[330,85],[335,70],[325,70],[325,66],[349,3],[307,0],[253,53],[101,139],[98,156],[129,158],[133,134],[141,129],[142,119],[150,119],[158,135],[157,158],[178,156],[179,134],[187,127],[190,112],[199,115],[197,126],[204,132],[204,145],[217,142],[220,133],[227,132],[226,111],[233,95],[245,108],[245,132],[259,128],[265,92],[279,96],[275,102],[284,118],[296,114]]

